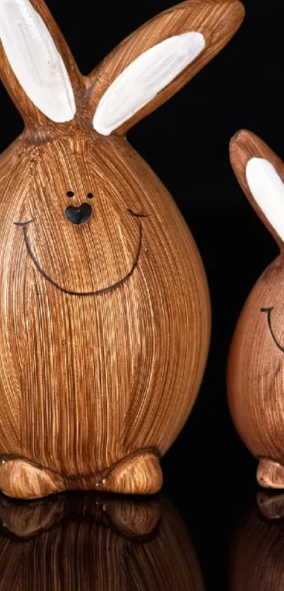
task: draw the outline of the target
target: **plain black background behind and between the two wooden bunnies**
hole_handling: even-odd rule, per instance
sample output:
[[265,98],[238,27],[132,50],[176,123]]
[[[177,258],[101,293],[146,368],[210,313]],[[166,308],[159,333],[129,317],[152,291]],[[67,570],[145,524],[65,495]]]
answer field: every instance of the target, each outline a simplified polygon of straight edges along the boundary
[[[171,0],[48,0],[82,73]],[[256,491],[257,463],[235,432],[226,362],[237,317],[278,248],[243,195],[228,157],[247,128],[284,157],[283,0],[244,0],[245,21],[221,54],[128,134],[180,207],[204,261],[213,312],[211,351],[195,408],[163,458],[165,489],[187,525],[207,588],[226,588],[226,552]],[[0,148],[23,123],[1,86]],[[204,543],[206,537],[206,543]]]

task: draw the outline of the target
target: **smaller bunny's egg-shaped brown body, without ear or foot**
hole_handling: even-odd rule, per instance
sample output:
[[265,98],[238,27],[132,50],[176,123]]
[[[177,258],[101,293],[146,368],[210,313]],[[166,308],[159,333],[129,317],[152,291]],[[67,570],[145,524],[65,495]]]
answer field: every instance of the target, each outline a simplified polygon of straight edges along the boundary
[[230,348],[228,398],[237,431],[256,458],[284,465],[284,260],[261,275]]

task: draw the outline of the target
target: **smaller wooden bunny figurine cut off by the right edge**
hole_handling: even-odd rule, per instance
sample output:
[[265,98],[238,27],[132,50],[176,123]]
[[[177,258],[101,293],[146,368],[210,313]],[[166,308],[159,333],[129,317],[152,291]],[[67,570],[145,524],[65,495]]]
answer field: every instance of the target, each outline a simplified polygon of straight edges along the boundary
[[284,164],[245,130],[231,140],[230,157],[280,255],[261,275],[242,310],[230,349],[228,399],[240,437],[259,460],[259,484],[284,488]]

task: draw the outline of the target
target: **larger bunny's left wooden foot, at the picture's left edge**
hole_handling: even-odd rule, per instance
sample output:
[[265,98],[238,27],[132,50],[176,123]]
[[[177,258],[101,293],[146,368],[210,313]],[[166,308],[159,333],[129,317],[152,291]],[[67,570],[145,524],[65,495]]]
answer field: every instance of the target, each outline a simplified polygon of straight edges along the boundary
[[18,459],[0,463],[0,489],[13,499],[39,499],[66,486],[60,475]]

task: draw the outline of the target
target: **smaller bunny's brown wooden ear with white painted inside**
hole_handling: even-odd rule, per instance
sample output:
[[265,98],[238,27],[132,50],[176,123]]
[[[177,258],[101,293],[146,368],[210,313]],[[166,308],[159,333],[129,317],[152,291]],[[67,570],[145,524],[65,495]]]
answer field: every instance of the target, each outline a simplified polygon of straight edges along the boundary
[[257,135],[238,132],[230,142],[230,160],[252,207],[283,248],[284,164]]

